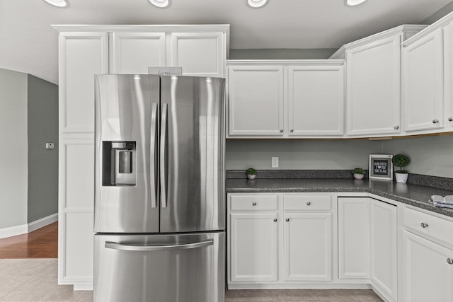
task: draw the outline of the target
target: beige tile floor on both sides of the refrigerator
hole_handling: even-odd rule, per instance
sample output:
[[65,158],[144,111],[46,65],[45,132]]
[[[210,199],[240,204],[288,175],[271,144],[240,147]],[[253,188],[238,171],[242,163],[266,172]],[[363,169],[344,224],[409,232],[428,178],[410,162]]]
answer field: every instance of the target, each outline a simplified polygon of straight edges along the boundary
[[[57,285],[57,259],[0,259],[0,301],[91,302],[93,291],[73,291],[70,285]],[[266,289],[226,291],[225,301],[382,300],[372,290]]]

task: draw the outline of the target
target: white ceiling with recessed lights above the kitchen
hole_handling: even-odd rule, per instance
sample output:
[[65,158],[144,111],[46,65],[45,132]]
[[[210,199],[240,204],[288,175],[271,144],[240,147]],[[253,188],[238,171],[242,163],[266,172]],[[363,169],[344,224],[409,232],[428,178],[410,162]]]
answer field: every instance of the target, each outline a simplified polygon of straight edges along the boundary
[[0,0],[0,68],[58,82],[57,32],[51,24],[230,24],[233,49],[338,48],[401,24],[419,24],[451,0],[69,0],[55,8],[40,0]]

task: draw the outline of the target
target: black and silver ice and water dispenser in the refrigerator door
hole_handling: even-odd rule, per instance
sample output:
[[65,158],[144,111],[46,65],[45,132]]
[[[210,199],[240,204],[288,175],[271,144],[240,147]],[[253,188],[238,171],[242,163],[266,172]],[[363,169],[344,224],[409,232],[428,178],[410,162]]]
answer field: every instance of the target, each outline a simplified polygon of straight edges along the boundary
[[135,141],[103,141],[104,186],[133,186],[137,182]]

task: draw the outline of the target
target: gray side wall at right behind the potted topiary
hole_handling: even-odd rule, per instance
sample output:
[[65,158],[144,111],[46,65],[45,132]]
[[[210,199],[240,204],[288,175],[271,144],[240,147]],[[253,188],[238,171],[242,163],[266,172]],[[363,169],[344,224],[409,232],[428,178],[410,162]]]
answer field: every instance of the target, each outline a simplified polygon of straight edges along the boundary
[[453,178],[453,135],[384,141],[384,153],[405,153],[409,173]]

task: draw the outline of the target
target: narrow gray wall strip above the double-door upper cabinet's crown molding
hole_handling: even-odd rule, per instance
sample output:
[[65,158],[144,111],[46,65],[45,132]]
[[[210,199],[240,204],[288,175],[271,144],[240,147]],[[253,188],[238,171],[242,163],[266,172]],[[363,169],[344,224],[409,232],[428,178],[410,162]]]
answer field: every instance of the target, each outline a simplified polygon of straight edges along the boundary
[[336,49],[229,50],[229,59],[328,59]]

